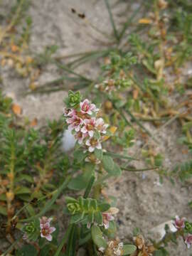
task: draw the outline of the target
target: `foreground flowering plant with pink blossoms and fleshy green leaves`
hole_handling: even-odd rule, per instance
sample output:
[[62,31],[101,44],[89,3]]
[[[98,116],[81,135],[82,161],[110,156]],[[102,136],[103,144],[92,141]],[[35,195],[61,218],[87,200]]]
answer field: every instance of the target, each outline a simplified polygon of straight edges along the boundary
[[[90,100],[82,100],[80,92],[70,91],[65,105],[64,127],[76,139],[73,164],[65,164],[68,171],[65,171],[63,183],[47,195],[51,198],[41,202],[40,208],[28,208],[31,215],[26,213],[27,218],[23,218],[20,214],[22,210],[33,205],[29,201],[16,215],[11,215],[11,228],[15,221],[22,237],[3,255],[8,252],[14,252],[15,255],[77,255],[78,248],[84,247],[87,255],[163,256],[167,255],[165,247],[178,237],[183,238],[188,248],[191,247],[192,223],[178,216],[173,220],[176,232],[166,227],[166,235],[159,242],[147,242],[138,232],[133,235],[134,244],[127,244],[117,238],[115,215],[119,210],[115,207],[114,197],[102,194],[102,188],[109,182],[109,178],[122,174],[121,167],[112,159],[112,156],[117,155],[108,152],[105,147],[107,139],[113,134],[100,117],[100,109]],[[4,106],[6,110],[6,102]],[[51,216],[48,211],[67,187],[73,190],[73,196],[68,196],[65,191],[63,215],[69,217],[70,222],[59,242],[58,224],[54,217],[48,217]],[[14,235],[13,230],[6,232]],[[20,249],[15,249],[17,242],[22,244]]]

